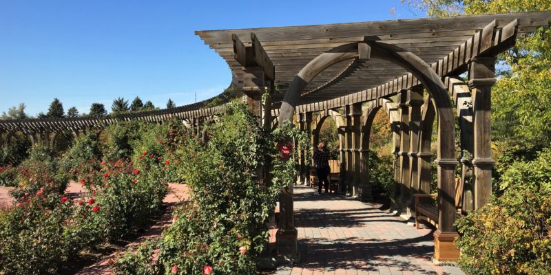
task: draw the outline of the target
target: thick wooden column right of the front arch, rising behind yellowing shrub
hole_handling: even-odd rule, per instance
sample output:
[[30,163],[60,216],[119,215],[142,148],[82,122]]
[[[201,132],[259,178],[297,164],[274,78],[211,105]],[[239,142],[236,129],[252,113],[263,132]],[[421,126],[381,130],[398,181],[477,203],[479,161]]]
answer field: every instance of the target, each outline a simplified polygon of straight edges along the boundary
[[472,58],[469,63],[469,82],[474,109],[475,154],[472,159],[475,180],[475,210],[488,203],[492,194],[492,140],[490,120],[495,83],[495,57]]

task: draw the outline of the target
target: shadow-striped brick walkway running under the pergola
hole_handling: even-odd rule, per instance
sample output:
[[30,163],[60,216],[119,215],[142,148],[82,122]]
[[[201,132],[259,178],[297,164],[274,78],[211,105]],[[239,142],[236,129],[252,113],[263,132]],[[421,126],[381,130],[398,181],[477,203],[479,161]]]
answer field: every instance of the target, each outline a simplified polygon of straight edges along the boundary
[[435,266],[433,230],[416,230],[367,203],[295,186],[301,262],[275,274],[464,274]]

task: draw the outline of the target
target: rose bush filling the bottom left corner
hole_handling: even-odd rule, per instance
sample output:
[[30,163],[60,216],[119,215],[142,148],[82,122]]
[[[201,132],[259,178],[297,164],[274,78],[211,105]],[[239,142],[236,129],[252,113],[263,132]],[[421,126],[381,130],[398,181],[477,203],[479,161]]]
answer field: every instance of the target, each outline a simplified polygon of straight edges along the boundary
[[68,229],[82,220],[74,216],[74,208],[86,208],[89,215],[95,213],[61,199],[54,193],[29,193],[14,208],[0,214],[3,274],[57,274],[63,262],[88,244],[79,232],[70,233]]

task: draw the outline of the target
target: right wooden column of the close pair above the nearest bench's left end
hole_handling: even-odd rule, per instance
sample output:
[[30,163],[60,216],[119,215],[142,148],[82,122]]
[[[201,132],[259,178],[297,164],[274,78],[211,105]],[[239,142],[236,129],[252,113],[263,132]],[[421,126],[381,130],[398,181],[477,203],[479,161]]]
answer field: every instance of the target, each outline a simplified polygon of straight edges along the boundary
[[409,130],[410,130],[410,145],[409,145],[409,175],[410,186],[407,196],[408,216],[415,215],[415,209],[413,207],[413,193],[417,192],[419,188],[419,182],[417,181],[418,175],[418,159],[417,153],[419,153],[419,131],[421,127],[421,106],[423,104],[423,87],[421,85],[408,89],[408,101],[406,104],[410,106],[409,113]]

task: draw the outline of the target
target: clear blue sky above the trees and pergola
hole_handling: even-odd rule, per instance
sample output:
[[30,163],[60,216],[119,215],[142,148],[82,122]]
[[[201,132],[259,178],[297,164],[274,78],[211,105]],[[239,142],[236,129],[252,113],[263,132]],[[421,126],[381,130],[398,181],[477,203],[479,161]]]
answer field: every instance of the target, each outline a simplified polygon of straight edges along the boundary
[[[395,8],[395,12],[391,9]],[[59,98],[92,102],[140,96],[165,107],[216,96],[226,63],[195,30],[276,27],[422,16],[394,1],[0,0],[0,111],[25,102],[47,111]]]

